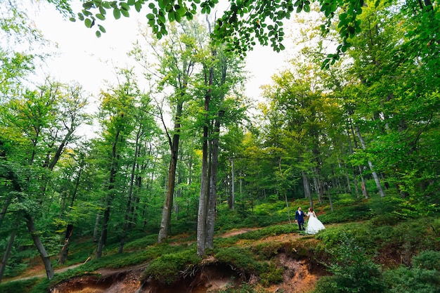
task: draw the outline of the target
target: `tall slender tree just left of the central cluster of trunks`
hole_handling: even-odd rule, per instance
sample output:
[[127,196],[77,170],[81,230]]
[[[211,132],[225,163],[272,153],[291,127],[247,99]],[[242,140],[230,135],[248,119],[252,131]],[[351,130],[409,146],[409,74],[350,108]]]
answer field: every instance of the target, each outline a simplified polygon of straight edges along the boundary
[[[205,39],[205,32],[198,22],[182,22],[178,25],[170,25],[169,36],[163,40],[144,34],[148,45],[152,49],[153,56],[158,60],[158,65],[151,65],[150,59],[145,56],[141,46],[136,46],[131,54],[141,63],[150,76],[157,79],[157,89],[151,91],[165,93],[164,98],[172,108],[173,129],[167,125],[167,114],[163,105],[157,105],[160,112],[160,120],[167,136],[169,144],[170,161],[167,178],[167,195],[162,210],[162,221],[158,242],[167,240],[176,185],[176,170],[179,159],[179,143],[181,142],[182,129],[186,116],[186,103],[191,99],[191,79],[195,70],[196,60],[200,44],[198,40]],[[155,68],[155,71],[152,68]]]

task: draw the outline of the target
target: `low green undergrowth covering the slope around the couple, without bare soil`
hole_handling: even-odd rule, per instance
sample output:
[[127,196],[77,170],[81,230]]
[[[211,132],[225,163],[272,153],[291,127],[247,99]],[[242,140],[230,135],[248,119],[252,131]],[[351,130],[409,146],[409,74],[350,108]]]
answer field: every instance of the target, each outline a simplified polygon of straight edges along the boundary
[[[417,287],[422,280],[427,280],[425,285],[428,287],[437,284],[440,266],[440,257],[436,253],[440,250],[438,215],[414,218],[403,216],[406,207],[400,199],[375,197],[364,200],[339,195],[334,196],[333,200],[333,211],[328,203],[314,204],[318,218],[327,227],[325,230],[316,236],[302,236],[290,242],[264,241],[269,237],[298,233],[295,222],[288,223],[285,202],[256,202],[252,211],[229,211],[221,206],[216,222],[214,249],[207,254],[242,275],[258,275],[259,283],[268,286],[280,282],[280,275],[283,275],[283,268],[275,261],[278,254],[309,259],[314,266],[322,266],[335,254],[332,248],[344,245],[342,240],[348,237],[356,247],[363,249],[366,259],[383,268],[383,278],[377,279],[380,284],[375,285],[399,289],[406,283]],[[290,203],[290,215],[297,206],[306,209],[308,205],[306,199],[295,200]],[[231,237],[219,237],[228,230],[238,228],[257,229]],[[62,280],[87,275],[99,268],[125,268],[140,263],[148,264],[143,278],[171,284],[181,278],[179,272],[195,271],[206,265],[206,259],[196,256],[195,233],[174,235],[168,243],[161,245],[156,243],[157,233],[145,235],[133,231],[127,238],[130,241],[127,241],[122,254],[117,254],[119,243],[115,240],[105,247],[101,259],[91,259],[79,268],[56,274],[51,281],[30,279],[6,282],[0,285],[0,292],[44,292]],[[87,257],[94,255],[94,250],[95,246],[91,245],[90,240],[72,243],[68,263],[84,262]],[[416,270],[422,269],[422,266],[429,272]],[[373,263],[370,267],[375,268]],[[405,276],[410,276],[413,281],[409,282]],[[318,284],[318,289],[320,286],[347,280],[329,276],[319,282],[321,285]],[[242,285],[241,289],[231,287],[224,292],[257,292],[256,288],[249,285]]]

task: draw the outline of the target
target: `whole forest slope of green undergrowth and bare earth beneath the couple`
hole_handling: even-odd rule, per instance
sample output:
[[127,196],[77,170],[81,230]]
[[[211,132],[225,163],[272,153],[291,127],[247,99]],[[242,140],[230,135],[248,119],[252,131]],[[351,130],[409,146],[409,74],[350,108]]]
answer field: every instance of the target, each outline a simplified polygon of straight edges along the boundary
[[[295,205],[307,203],[295,201]],[[5,279],[0,292],[328,292],[322,288],[342,280],[333,278],[338,276],[329,270],[328,265],[335,261],[338,269],[351,273],[350,278],[368,284],[373,280],[382,289],[398,288],[389,292],[406,292],[399,288],[408,282],[410,287],[425,286],[431,290],[425,292],[438,292],[437,279],[427,282],[431,279],[426,278],[439,275],[440,269],[429,271],[431,266],[420,271],[433,259],[440,263],[440,253],[436,253],[440,252],[438,213],[420,217],[402,209],[406,206],[399,199],[354,200],[348,195],[335,200],[334,207],[333,211],[316,204],[318,218],[326,227],[317,235],[299,233],[294,221],[287,222],[282,202],[255,206],[254,214],[245,216],[223,211],[216,223],[214,249],[207,249],[203,258],[196,256],[192,222],[175,225],[176,233],[162,244],[157,244],[157,234],[134,230],[122,254],[114,237],[101,259],[93,257],[96,243],[77,238],[67,265],[56,268],[53,280],[46,280],[36,258],[20,275]],[[413,266],[415,256],[417,266]],[[365,269],[375,271],[375,277],[365,277]],[[408,275],[413,277],[408,279]],[[353,289],[350,284],[341,285]]]

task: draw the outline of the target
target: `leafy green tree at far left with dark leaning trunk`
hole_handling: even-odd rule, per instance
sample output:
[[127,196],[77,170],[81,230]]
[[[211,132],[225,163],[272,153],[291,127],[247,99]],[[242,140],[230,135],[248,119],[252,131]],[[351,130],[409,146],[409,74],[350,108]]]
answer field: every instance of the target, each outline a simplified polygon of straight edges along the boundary
[[[53,278],[53,268],[35,223],[43,216],[41,207],[47,204],[46,189],[51,184],[48,174],[53,171],[67,145],[77,140],[73,134],[85,121],[82,111],[86,103],[82,95],[82,89],[77,85],[48,80],[37,90],[27,90],[24,96],[11,98],[0,109],[0,141],[4,145],[0,176],[13,182],[2,211],[6,212],[14,198],[13,209],[18,210],[25,220],[48,279]],[[11,247],[14,238],[15,230],[11,233],[8,247]],[[2,266],[6,266],[8,252],[10,249],[6,249]]]

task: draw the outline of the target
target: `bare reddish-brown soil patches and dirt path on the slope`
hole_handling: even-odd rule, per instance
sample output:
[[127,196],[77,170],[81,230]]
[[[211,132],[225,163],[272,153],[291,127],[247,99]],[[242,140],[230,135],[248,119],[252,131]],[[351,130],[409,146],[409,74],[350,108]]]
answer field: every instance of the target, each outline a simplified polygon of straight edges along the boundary
[[[295,223],[292,223],[296,226]],[[227,238],[244,233],[259,230],[260,228],[240,228],[229,230],[226,233],[218,235],[217,237]],[[235,245],[240,247],[257,247],[270,245],[285,245],[287,243],[297,241],[302,237],[307,237],[300,233],[286,233],[281,235],[273,235],[270,237],[264,237],[259,240],[239,240]],[[180,245],[179,235],[172,237],[170,245]],[[184,238],[184,237],[182,237]],[[188,244],[188,241],[184,240]],[[136,266],[129,266],[124,268],[99,268],[96,271],[84,272],[85,275],[71,278],[70,280],[64,280],[51,288],[53,293],[112,293],[112,292],[124,292],[124,293],[141,293],[141,292],[216,292],[219,289],[225,289],[233,283],[239,284],[242,281],[240,273],[236,273],[230,268],[225,266],[218,266],[212,257],[206,260],[209,265],[202,268],[197,273],[193,273],[185,284],[179,283],[171,286],[157,287],[157,285],[144,285],[142,286],[141,275],[148,266],[148,263],[141,263]],[[310,292],[313,289],[316,280],[323,274],[321,269],[312,269],[311,264],[305,259],[297,260],[292,259],[287,254],[279,254],[276,261],[280,266],[283,266],[283,282],[279,282],[276,285],[271,285],[265,288],[265,292],[285,292],[285,293],[297,293],[297,292]],[[76,263],[70,266],[56,269],[56,275],[64,273],[68,270],[80,268],[84,263]],[[46,273],[44,266],[36,265],[28,268],[20,276],[6,280],[18,281],[28,280],[31,278],[45,278]],[[250,275],[250,285],[255,285],[259,280],[255,275]],[[184,291],[183,287],[186,287],[188,291]]]

